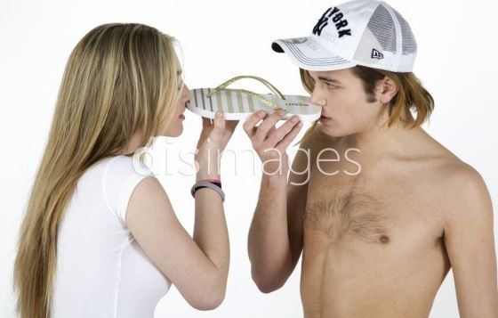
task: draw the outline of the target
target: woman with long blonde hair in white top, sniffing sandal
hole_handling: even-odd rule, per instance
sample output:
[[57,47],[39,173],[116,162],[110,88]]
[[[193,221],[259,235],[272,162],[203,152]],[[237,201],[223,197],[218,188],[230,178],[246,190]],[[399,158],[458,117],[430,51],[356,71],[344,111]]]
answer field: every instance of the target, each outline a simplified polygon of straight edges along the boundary
[[20,230],[21,318],[152,317],[172,283],[197,309],[221,304],[229,237],[209,167],[237,122],[203,119],[193,238],[133,156],[155,136],[181,135],[189,89],[174,44],[145,25],[106,24],[71,53]]

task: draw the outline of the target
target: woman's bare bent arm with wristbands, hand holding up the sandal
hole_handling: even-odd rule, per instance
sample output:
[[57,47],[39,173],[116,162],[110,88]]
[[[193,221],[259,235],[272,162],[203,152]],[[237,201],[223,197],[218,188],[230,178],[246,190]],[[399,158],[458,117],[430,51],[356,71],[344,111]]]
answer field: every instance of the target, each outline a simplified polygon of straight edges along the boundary
[[[219,179],[219,151],[223,151],[237,122],[222,115],[213,124],[203,118],[197,143],[197,181]],[[229,271],[229,233],[219,193],[196,192],[194,237],[174,214],[157,178],[150,176],[135,188],[125,222],[141,248],[173,282],[189,304],[199,310],[221,305]]]

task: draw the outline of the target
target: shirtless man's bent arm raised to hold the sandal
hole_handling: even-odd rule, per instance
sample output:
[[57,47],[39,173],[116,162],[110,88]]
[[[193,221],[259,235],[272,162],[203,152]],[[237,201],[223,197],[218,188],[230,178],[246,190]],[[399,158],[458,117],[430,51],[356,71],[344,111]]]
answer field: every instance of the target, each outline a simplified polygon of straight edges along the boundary
[[[271,119],[272,116],[268,119],[269,124],[273,122]],[[248,122],[249,125],[245,127],[246,132],[250,132],[253,126],[250,120]],[[262,123],[258,130],[265,129],[264,124],[266,123]],[[278,143],[275,148],[281,149],[283,153],[299,129],[296,126],[291,129],[291,125],[292,123],[284,124],[280,133],[284,135],[288,132],[288,134],[285,137],[277,137],[277,139],[283,138],[283,144]],[[268,134],[275,135],[279,129],[270,129]],[[265,140],[271,143],[270,138]],[[258,143],[253,141],[253,144],[256,146],[256,151],[261,152]],[[301,148],[303,147],[307,147],[305,142],[301,143]],[[264,146],[262,148],[268,149]],[[262,292],[266,293],[284,285],[293,273],[302,250],[302,216],[308,191],[309,159],[301,151],[297,153],[289,181],[286,177],[288,167],[286,164],[283,166],[282,174],[263,174],[260,198],[249,230],[248,251],[253,281]],[[302,171],[304,173],[300,174]]]

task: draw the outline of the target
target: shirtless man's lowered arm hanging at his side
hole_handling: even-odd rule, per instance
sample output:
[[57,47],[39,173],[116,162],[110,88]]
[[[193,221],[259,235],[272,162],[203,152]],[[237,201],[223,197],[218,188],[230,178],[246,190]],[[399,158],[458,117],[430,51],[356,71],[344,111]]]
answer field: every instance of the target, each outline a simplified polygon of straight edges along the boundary
[[493,208],[481,176],[465,166],[455,175],[445,243],[462,318],[498,317]]

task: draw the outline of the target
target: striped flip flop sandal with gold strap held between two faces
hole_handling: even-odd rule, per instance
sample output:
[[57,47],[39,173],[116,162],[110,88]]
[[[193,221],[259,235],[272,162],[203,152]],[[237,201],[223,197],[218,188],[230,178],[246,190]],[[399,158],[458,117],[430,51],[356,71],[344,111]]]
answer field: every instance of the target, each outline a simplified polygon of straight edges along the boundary
[[[245,89],[227,88],[242,78],[255,79],[269,88],[273,94],[257,94]],[[199,116],[214,118],[217,110],[223,111],[227,120],[244,120],[258,110],[269,113],[278,109],[286,110],[285,117],[298,115],[302,121],[320,118],[322,108],[309,102],[309,97],[284,95],[275,86],[261,77],[238,76],[230,78],[216,88],[196,88],[191,90],[192,98],[187,108]]]

